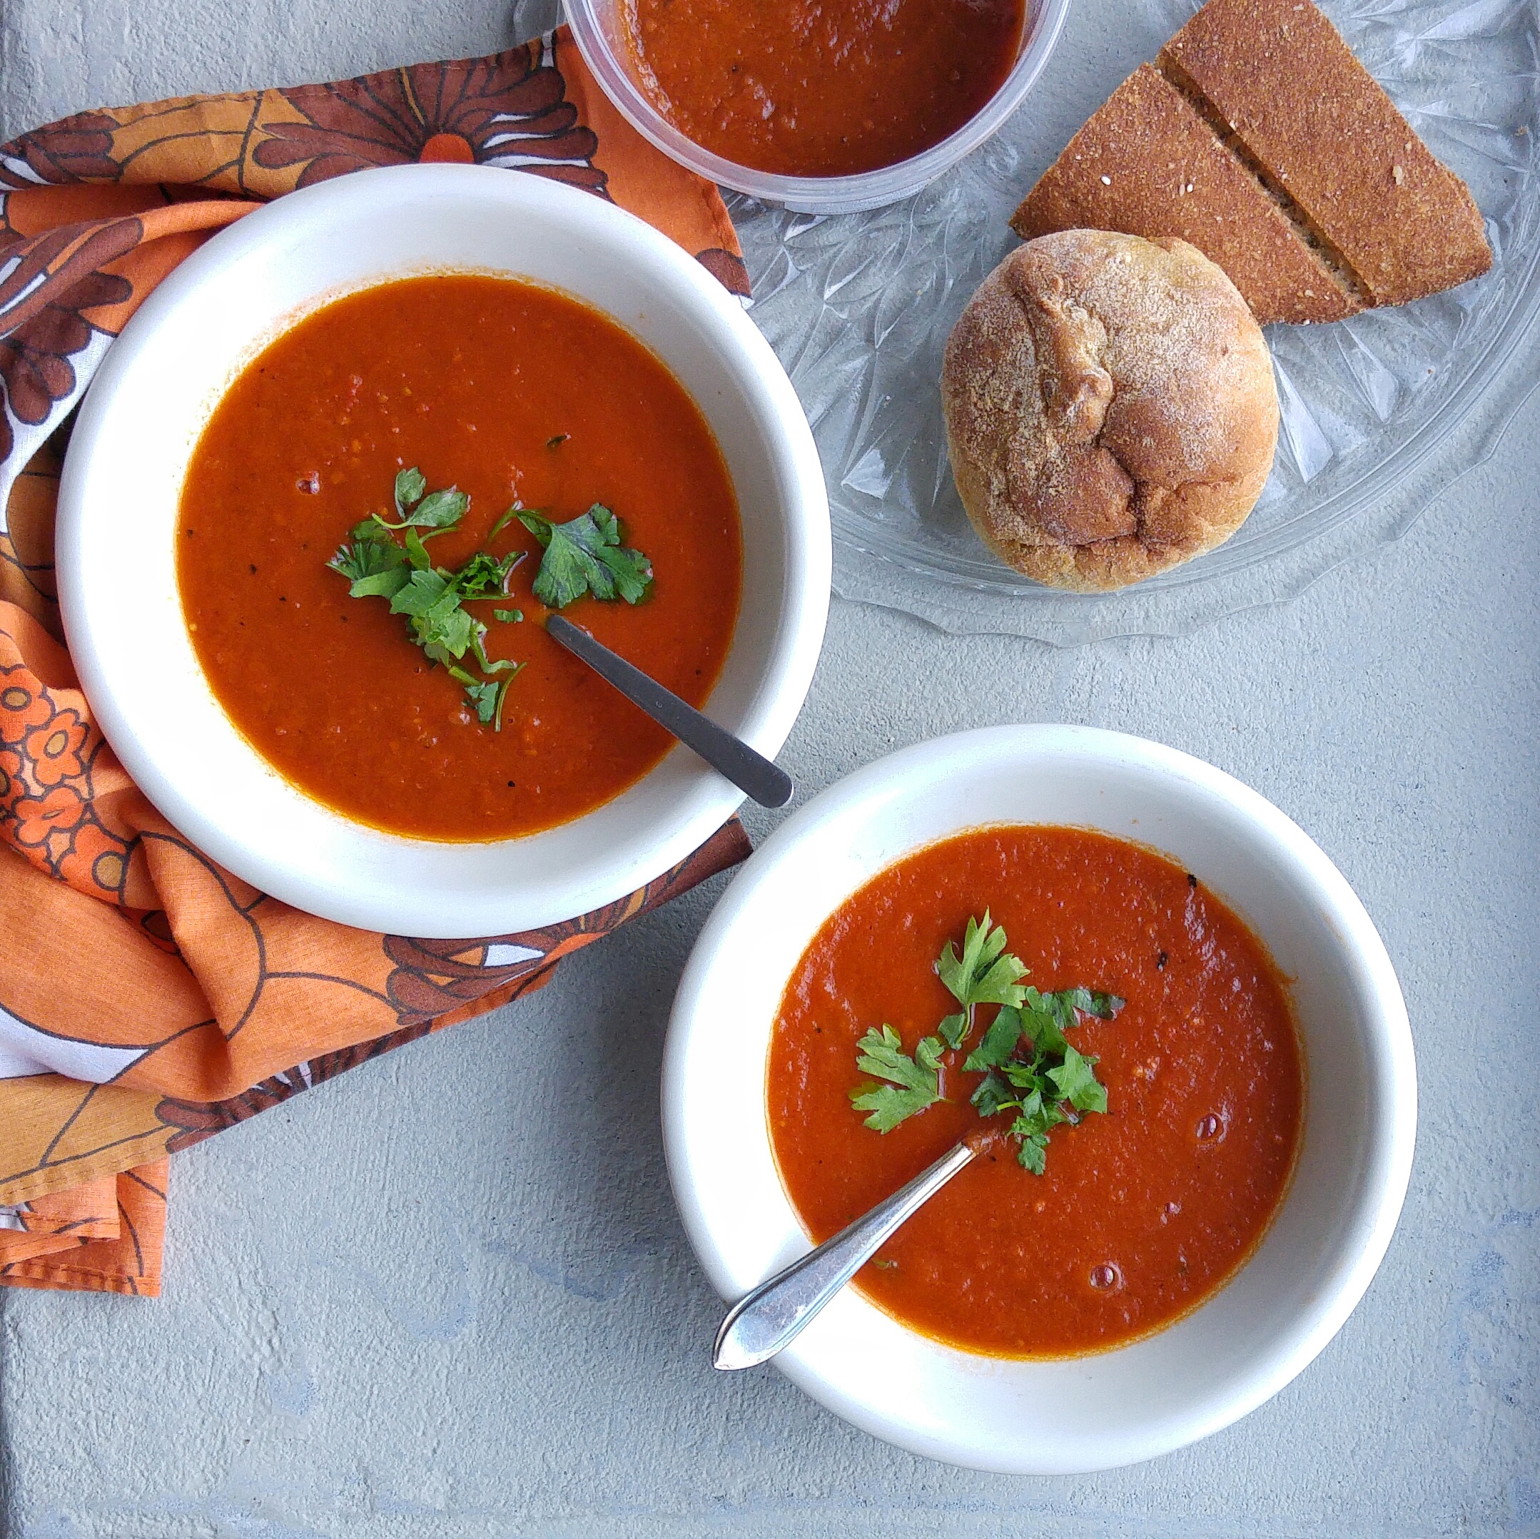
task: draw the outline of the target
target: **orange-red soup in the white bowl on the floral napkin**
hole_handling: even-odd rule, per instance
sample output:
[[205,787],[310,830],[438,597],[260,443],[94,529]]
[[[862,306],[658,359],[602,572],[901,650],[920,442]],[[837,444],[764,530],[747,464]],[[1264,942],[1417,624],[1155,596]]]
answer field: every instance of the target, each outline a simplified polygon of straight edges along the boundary
[[[550,440],[565,434],[562,442]],[[476,722],[383,599],[353,599],[326,560],[396,472],[470,492],[430,554],[454,569],[517,499],[554,520],[601,502],[653,563],[634,608],[567,616],[693,705],[710,694],[741,588],[738,503],[695,402],[598,311],[510,279],[439,274],[348,295],[266,348],[219,403],[182,492],[177,574],[199,662],[257,751],[365,823],[497,839],[567,822],[639,780],[671,739],[559,648],[531,594],[467,603],[491,657],[528,663],[502,731]],[[493,608],[524,611],[504,623]]]

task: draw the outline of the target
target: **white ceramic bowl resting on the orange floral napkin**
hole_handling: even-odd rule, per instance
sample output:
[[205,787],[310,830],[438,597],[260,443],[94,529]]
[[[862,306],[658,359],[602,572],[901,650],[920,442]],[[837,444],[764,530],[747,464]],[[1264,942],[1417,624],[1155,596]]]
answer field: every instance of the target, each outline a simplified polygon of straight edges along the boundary
[[721,443],[744,597],[707,714],[775,756],[829,611],[829,503],[807,419],[742,306],[671,240],[588,192],[487,166],[360,171],[248,214],[145,302],[91,385],[59,497],[59,597],[108,740],[220,865],[370,930],[531,930],[633,891],[719,828],[741,793],[684,748],[622,796],[524,839],[437,843],[348,822],[236,731],[188,640],[177,499],[229,382],[339,294],[424,271],[507,272],[605,311],[653,349]]

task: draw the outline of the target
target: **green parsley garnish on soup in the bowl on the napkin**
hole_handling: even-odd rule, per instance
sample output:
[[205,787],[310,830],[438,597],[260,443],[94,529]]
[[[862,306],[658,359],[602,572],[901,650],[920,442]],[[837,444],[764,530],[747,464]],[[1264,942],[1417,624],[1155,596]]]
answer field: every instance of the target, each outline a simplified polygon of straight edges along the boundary
[[[551,446],[565,437],[559,434]],[[487,626],[464,605],[507,597],[508,579],[528,553],[493,556],[480,549],[457,571],[436,566],[428,540],[459,528],[470,497],[457,486],[428,491],[422,471],[413,465],[396,476],[393,500],[394,520],[376,512],[354,525],[326,565],[348,579],[351,597],[388,599],[391,614],[407,617],[411,640],[465,689],[476,719],[502,731],[508,685],[525,665],[511,657],[488,657]],[[488,543],[514,519],[544,546],[534,597],[551,609],[565,609],[584,594],[639,603],[653,585],[651,562],[621,545],[621,520],[599,503],[570,523],[551,523],[514,505],[491,526]],[[491,613],[505,625],[524,619],[522,609]]]

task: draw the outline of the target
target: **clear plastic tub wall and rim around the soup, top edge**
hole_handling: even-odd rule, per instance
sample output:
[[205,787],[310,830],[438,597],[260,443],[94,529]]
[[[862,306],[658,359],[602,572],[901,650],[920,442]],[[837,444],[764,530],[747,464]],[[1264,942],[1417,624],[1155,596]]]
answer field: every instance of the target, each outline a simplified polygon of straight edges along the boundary
[[762,203],[775,203],[804,214],[859,214],[896,203],[921,191],[996,134],[1026,102],[1064,29],[1069,0],[1029,0],[1032,14],[1010,72],[995,94],[961,128],[909,160],[842,177],[793,177],[776,171],[756,171],[705,149],[670,123],[638,89],[625,63],[616,57],[596,17],[596,0],[564,0],[567,23],[588,72],[610,98],[611,106],[648,143],[685,169],[745,192]]

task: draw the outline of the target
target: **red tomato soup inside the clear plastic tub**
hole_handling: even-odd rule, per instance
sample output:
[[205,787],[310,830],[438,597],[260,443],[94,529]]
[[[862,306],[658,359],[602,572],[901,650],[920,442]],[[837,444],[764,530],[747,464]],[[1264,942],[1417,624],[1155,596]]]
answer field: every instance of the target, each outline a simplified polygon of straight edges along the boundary
[[741,166],[842,177],[956,132],[1016,62],[1023,0],[624,0],[653,105]]

